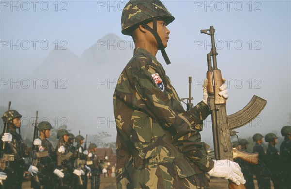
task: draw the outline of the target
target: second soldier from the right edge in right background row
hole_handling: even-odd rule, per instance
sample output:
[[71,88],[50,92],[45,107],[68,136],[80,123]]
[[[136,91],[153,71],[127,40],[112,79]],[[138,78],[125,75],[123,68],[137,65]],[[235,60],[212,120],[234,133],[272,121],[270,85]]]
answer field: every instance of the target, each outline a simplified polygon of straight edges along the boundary
[[266,142],[269,142],[266,165],[271,171],[271,180],[275,189],[282,189],[282,162],[280,160],[279,150],[276,148],[278,137],[274,133],[268,133],[265,139]]

